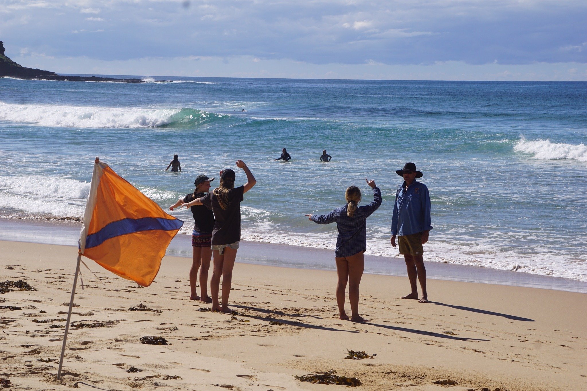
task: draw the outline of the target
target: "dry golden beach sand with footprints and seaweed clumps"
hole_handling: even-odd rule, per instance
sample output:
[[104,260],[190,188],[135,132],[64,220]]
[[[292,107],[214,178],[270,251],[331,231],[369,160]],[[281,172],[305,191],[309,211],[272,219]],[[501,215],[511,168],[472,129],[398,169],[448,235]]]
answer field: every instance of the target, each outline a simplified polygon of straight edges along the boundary
[[[356,324],[338,319],[334,272],[237,263],[238,314],[227,315],[189,300],[191,260],[181,257],[165,257],[144,288],[85,260],[103,284],[82,267],[73,325],[112,322],[70,329],[56,380],[75,260],[74,247],[0,242],[0,280],[37,290],[0,294],[0,307],[13,307],[0,308],[0,378],[10,389],[342,389],[294,377],[330,369],[364,390],[587,389],[582,293],[429,280],[431,302],[420,304],[399,299],[405,277],[366,274],[360,311],[369,321]],[[139,304],[160,312],[129,311]],[[349,349],[373,358],[345,359]]]

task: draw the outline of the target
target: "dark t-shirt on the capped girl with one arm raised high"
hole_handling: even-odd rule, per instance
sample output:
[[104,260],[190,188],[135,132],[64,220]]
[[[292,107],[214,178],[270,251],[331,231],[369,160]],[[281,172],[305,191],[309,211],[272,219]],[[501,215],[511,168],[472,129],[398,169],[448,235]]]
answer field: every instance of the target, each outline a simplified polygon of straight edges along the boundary
[[230,244],[241,240],[241,201],[243,200],[244,186],[228,192],[228,206],[220,207],[218,197],[213,192],[202,199],[205,206],[214,211],[214,230],[212,231],[212,246]]

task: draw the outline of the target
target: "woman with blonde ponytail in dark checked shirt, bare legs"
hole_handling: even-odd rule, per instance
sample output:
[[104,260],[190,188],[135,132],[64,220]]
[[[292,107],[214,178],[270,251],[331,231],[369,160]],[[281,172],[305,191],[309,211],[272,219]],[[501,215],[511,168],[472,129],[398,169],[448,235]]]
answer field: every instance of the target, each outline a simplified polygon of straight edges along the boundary
[[359,315],[359,284],[365,269],[365,257],[367,250],[367,217],[372,215],[381,205],[381,191],[375,185],[375,181],[367,184],[373,189],[373,201],[369,205],[357,206],[361,200],[361,191],[356,186],[346,189],[346,205],[328,213],[328,215],[306,215],[315,223],[330,224],[336,222],[338,226],[338,238],[334,252],[336,260],[336,303],[340,312],[339,319],[349,319],[345,312],[346,284],[349,284],[350,320],[364,322]]

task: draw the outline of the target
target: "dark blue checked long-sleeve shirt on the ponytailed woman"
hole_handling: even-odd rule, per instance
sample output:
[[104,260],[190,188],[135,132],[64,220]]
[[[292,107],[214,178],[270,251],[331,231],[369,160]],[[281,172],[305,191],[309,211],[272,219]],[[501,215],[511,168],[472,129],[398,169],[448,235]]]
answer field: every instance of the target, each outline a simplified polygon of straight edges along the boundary
[[369,217],[381,205],[381,191],[373,188],[373,202],[369,205],[359,206],[353,215],[346,215],[346,207],[336,208],[328,215],[312,215],[312,221],[318,224],[330,224],[336,222],[338,226],[338,238],[336,239],[335,257],[348,257],[367,250],[367,217]]

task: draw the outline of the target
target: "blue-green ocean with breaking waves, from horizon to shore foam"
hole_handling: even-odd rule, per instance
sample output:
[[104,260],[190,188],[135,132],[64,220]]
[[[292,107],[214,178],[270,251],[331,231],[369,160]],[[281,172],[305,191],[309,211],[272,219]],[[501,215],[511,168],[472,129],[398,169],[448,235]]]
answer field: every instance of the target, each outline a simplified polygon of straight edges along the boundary
[[[395,170],[411,161],[432,202],[425,260],[587,281],[587,83],[148,80],[0,79],[0,217],[79,219],[96,156],[164,209],[198,174],[244,183],[242,159],[257,178],[242,239],[333,249],[336,226],[304,215],[350,185],[365,205],[369,178],[383,204],[367,254],[399,256]],[[174,154],[181,173],[164,171]],[[170,213],[191,233],[189,211]]]

